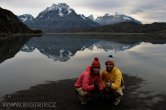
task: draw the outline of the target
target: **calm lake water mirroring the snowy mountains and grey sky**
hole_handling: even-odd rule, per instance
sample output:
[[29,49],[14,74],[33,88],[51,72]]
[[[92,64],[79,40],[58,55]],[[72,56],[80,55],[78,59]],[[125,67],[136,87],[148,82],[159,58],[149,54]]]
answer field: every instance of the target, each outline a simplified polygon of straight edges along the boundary
[[166,82],[166,44],[44,35],[2,44],[0,53],[0,96],[46,81],[75,78],[93,57],[104,64],[110,54],[123,73],[145,80],[140,89],[166,93],[161,86]]

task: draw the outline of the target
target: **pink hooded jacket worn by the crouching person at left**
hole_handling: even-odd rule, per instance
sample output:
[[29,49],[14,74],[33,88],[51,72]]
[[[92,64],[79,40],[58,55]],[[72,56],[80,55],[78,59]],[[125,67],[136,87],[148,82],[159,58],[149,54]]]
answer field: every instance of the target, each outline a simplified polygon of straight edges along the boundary
[[88,66],[86,68],[86,71],[84,71],[79,78],[77,79],[76,83],[75,83],[75,88],[80,88],[82,87],[82,90],[84,91],[93,91],[94,85],[93,83],[95,81],[97,81],[98,86],[99,86],[99,90],[103,90],[103,84],[102,81],[100,79],[100,75],[93,75],[90,72],[90,66]]

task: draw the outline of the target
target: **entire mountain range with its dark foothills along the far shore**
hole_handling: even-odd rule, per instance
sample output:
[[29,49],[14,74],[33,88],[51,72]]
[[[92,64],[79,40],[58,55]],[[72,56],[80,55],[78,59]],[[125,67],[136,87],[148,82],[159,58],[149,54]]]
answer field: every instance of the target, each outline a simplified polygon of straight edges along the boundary
[[[27,26],[26,26],[27,25]],[[166,33],[166,23],[142,24],[124,15],[105,14],[94,19],[77,14],[66,3],[53,4],[34,18],[30,14],[20,16],[0,8],[0,36],[18,33],[43,32],[122,32],[122,33]],[[34,29],[37,29],[34,31]]]

